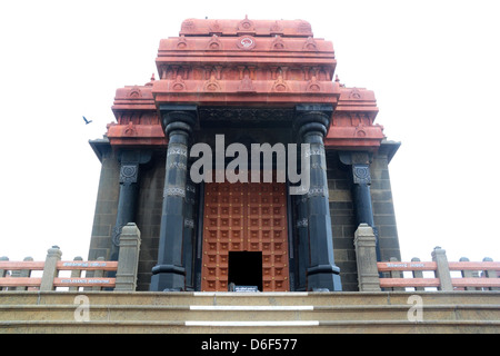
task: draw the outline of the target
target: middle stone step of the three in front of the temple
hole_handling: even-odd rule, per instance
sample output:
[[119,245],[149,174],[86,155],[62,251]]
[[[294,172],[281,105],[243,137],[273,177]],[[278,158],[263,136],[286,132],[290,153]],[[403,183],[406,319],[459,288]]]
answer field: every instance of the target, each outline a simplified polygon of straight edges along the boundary
[[[409,305],[353,306],[166,306],[91,305],[92,322],[337,322],[408,320]],[[0,320],[76,319],[77,305],[4,305]],[[77,316],[78,317],[78,316]],[[428,305],[424,320],[500,320],[500,305]]]

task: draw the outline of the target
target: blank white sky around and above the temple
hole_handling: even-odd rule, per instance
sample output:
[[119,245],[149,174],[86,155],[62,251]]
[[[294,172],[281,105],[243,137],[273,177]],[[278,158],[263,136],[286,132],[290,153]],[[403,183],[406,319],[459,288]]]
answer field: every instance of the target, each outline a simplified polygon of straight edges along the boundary
[[[303,19],[376,92],[403,259],[500,260],[498,1],[2,1],[0,256],[87,258],[116,89],[157,75],[187,18]],[[82,116],[93,120],[86,126]]]

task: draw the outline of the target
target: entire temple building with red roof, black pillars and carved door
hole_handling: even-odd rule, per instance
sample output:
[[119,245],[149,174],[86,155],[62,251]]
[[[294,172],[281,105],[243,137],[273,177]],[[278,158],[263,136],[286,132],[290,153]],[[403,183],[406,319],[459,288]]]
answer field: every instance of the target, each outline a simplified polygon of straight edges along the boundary
[[[90,141],[102,169],[89,260],[117,260],[128,222],[141,233],[137,290],[358,290],[362,222],[378,260],[400,259],[388,169],[399,144],[309,22],[188,19],[156,65],[117,90],[116,122]],[[279,148],[302,190],[289,170],[279,179]],[[200,181],[201,158],[212,165]]]

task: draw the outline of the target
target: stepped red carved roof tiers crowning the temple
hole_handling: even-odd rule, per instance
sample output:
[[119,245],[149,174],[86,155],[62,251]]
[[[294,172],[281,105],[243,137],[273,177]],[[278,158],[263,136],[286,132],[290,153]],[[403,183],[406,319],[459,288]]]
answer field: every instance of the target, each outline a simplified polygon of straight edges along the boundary
[[157,113],[162,103],[267,109],[329,103],[334,111],[327,147],[377,149],[384,138],[373,125],[374,93],[333,80],[333,46],[314,38],[307,21],[188,19],[178,37],[160,41],[156,63],[158,80],[117,90],[111,145],[166,145]]

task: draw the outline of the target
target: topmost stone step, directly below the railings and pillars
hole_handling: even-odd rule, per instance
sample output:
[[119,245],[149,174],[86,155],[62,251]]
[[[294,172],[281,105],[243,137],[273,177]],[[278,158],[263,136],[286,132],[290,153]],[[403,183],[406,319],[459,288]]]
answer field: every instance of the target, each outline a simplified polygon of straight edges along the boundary
[[[0,291],[0,305],[73,305],[77,296],[90,305],[409,305],[413,295],[426,305],[500,304],[500,291],[379,291],[379,293],[118,293]],[[112,300],[112,303],[110,303]]]

